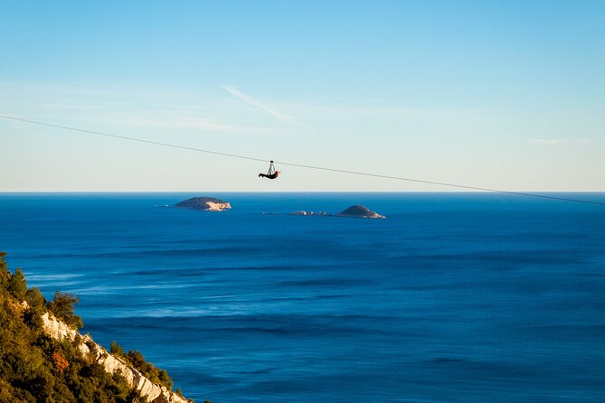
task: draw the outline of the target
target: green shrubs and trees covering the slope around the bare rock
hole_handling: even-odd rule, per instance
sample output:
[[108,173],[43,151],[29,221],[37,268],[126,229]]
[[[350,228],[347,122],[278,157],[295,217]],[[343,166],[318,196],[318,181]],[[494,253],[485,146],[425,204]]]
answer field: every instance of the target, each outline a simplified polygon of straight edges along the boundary
[[[5,256],[0,252],[0,401],[143,402],[121,375],[84,357],[75,342],[59,342],[43,332],[45,312],[74,329],[81,326],[80,316],[74,314],[78,298],[57,292],[46,301],[38,288],[27,288],[21,269],[8,270]],[[123,356],[152,381],[172,388],[165,370],[147,363],[140,352]]]

